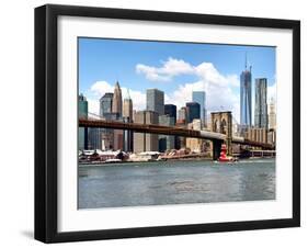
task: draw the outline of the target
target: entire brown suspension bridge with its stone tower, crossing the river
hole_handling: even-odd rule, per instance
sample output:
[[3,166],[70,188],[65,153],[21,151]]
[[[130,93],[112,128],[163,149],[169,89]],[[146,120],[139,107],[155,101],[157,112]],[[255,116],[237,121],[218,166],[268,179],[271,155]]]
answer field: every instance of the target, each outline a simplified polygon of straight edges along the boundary
[[231,144],[258,147],[265,150],[274,150],[275,146],[269,143],[259,143],[243,137],[232,135],[231,112],[212,113],[210,131],[196,131],[178,126],[163,126],[157,124],[124,123],[98,117],[79,119],[79,127],[129,129],[135,133],[149,133],[161,135],[174,135],[182,137],[201,138],[213,142],[213,159],[217,159],[220,154],[221,144],[227,145],[228,154],[232,155]]

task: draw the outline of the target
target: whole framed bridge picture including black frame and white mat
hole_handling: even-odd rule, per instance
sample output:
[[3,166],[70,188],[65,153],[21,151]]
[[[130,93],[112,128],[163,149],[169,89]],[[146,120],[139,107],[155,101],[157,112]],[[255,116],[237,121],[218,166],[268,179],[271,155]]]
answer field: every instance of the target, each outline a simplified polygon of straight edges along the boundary
[[35,9],[35,238],[300,225],[300,23]]

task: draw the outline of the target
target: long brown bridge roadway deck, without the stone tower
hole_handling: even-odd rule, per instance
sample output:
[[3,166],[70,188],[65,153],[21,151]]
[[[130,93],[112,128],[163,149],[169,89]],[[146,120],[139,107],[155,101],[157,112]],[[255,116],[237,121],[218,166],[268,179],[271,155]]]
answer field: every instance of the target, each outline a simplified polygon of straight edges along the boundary
[[[116,121],[107,121],[107,120],[90,120],[90,119],[79,119],[80,127],[96,127],[96,128],[113,128],[113,129],[130,129],[136,133],[150,133],[150,134],[162,134],[162,135],[175,135],[191,138],[203,138],[209,140],[220,140],[224,142],[227,139],[227,135],[209,132],[209,131],[196,131],[196,129],[187,129],[178,126],[162,126],[156,124],[139,124],[139,123],[124,123]],[[250,145],[255,147],[262,147],[266,149],[274,149],[272,144],[266,143],[258,143],[253,140],[246,139],[243,137],[232,137],[232,143]]]

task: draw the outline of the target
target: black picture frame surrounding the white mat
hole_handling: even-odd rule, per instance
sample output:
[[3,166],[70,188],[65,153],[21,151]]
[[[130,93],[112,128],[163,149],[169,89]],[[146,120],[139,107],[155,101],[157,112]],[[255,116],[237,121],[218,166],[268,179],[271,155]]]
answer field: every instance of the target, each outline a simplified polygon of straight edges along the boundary
[[[292,30],[293,217],[59,233],[57,230],[57,20],[60,15]],[[299,21],[54,4],[35,9],[35,239],[44,243],[61,243],[296,226],[300,226]]]

